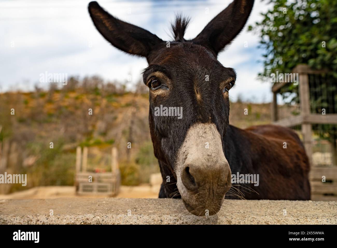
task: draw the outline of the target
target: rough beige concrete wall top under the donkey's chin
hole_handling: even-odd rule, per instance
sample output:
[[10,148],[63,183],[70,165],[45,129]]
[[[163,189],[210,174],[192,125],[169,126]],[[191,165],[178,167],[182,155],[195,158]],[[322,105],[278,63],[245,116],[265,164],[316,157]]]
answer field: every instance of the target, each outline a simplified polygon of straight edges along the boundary
[[198,217],[179,199],[4,199],[0,224],[337,224],[337,202],[225,200]]

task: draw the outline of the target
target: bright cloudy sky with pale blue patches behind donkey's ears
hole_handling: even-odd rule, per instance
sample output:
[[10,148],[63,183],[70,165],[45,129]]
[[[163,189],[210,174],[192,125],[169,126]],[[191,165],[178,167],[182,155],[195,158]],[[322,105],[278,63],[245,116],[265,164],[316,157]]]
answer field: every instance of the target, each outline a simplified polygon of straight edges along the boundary
[[[30,91],[40,82],[40,74],[64,73],[70,76],[99,75],[105,81],[128,82],[132,89],[147,67],[145,58],[138,58],[113,47],[94,27],[86,0],[1,0],[0,1],[0,92]],[[170,24],[175,14],[191,17],[185,39],[192,39],[232,0],[98,0],[112,15],[172,40]],[[218,56],[225,67],[237,72],[231,100],[270,102],[271,82],[257,79],[263,70],[258,60],[258,35],[247,32],[249,24],[261,21],[261,12],[270,6],[255,0],[252,13],[243,31]],[[248,47],[245,47],[245,42]],[[282,101],[280,99],[280,101]],[[280,102],[279,101],[279,102]]]

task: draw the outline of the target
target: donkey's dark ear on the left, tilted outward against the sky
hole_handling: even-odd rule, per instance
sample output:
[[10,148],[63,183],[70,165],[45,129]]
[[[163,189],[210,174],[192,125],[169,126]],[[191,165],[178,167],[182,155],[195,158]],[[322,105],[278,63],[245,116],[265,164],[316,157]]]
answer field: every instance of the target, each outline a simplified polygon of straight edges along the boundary
[[97,2],[90,2],[88,9],[101,35],[122,51],[147,57],[154,46],[159,43],[165,44],[149,31],[118,20],[102,9]]

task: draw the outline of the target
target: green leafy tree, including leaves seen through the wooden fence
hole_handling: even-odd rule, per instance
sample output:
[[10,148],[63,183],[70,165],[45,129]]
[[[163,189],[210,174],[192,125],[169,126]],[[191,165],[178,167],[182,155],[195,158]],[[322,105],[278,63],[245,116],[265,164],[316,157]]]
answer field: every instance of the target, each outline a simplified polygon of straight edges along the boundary
[[[249,26],[259,34],[259,48],[264,49],[263,81],[271,73],[290,73],[298,64],[330,71],[317,79],[309,76],[311,112],[337,112],[337,0],[269,0],[272,8],[262,13],[263,20]],[[322,80],[323,79],[323,80]],[[318,81],[318,82],[317,82]],[[288,84],[280,91],[288,102],[299,102],[298,85]],[[289,97],[290,96],[290,97]],[[330,140],[336,151],[336,125],[313,125],[323,139]]]

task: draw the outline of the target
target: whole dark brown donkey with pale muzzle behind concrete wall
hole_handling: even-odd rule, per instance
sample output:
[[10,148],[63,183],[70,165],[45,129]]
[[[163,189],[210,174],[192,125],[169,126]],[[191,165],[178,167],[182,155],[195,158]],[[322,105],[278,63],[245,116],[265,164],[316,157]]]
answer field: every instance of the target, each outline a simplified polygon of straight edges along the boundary
[[[217,55],[242,30],[253,3],[234,0],[192,40],[184,39],[188,19],[179,15],[170,43],[89,3],[106,40],[146,57],[150,132],[163,178],[159,198],[182,198],[195,215],[216,214],[229,189],[236,191],[226,198],[310,199],[309,161],[296,133],[273,125],[242,130],[228,122],[236,72],[222,66]],[[183,117],[158,116],[159,106],[182,107]],[[258,175],[258,186],[251,180],[238,184],[232,173]]]

